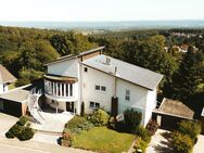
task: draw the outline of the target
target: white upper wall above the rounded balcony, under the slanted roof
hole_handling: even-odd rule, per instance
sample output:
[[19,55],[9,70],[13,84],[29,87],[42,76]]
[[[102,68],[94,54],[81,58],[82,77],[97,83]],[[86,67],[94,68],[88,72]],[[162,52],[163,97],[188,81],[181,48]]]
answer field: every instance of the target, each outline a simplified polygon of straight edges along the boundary
[[78,77],[78,59],[72,59],[48,65],[48,74]]

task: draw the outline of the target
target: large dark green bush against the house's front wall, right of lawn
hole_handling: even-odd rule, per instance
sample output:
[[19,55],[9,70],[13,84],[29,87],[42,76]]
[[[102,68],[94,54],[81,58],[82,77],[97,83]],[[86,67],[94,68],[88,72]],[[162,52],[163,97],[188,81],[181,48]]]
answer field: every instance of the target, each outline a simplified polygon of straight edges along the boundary
[[124,119],[125,119],[125,125],[126,125],[127,131],[128,132],[133,132],[135,129],[141,123],[142,114],[137,112],[137,111],[135,111],[133,109],[126,110],[124,112]]

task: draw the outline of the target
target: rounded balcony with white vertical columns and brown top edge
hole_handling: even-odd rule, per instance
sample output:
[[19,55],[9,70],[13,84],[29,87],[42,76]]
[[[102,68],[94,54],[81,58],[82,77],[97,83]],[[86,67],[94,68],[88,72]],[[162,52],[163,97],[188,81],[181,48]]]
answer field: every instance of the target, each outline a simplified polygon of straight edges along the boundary
[[59,102],[78,100],[78,82],[75,78],[44,76],[46,97]]

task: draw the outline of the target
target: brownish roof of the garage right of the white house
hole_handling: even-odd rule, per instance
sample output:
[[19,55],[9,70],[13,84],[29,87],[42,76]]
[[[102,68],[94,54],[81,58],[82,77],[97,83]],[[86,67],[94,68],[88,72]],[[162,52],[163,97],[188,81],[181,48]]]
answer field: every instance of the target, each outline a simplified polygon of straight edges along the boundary
[[157,113],[178,116],[181,118],[193,118],[194,112],[180,101],[164,99]]

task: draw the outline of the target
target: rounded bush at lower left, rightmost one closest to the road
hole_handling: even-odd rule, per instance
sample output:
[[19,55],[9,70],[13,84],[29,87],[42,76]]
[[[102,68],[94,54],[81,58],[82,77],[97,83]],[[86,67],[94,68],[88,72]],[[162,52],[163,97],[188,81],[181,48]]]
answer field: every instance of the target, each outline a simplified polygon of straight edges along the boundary
[[29,127],[24,127],[17,138],[21,141],[25,141],[31,139],[33,137],[34,137],[34,130]]

